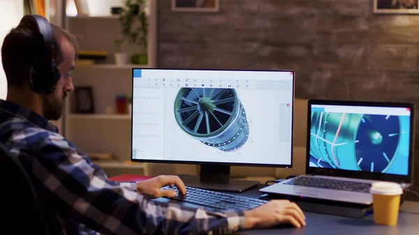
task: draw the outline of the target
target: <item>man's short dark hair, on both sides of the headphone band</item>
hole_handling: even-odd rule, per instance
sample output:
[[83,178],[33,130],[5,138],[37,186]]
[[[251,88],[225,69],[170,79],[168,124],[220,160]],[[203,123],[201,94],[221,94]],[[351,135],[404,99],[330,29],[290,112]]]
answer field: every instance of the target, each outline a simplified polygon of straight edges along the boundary
[[[77,38],[59,26],[51,24],[54,38],[54,62],[56,66],[64,60],[61,38],[68,40],[77,52]],[[13,28],[3,40],[1,61],[8,86],[22,87],[29,79],[34,61],[45,54],[45,44],[40,33],[32,24],[20,24]]]

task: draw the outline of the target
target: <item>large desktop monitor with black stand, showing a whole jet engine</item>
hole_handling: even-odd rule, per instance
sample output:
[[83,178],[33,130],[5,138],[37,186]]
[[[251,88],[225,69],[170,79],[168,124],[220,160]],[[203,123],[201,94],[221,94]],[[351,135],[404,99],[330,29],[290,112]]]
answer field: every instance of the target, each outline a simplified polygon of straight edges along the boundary
[[185,185],[240,192],[230,166],[292,167],[293,70],[133,68],[131,160],[200,165]]

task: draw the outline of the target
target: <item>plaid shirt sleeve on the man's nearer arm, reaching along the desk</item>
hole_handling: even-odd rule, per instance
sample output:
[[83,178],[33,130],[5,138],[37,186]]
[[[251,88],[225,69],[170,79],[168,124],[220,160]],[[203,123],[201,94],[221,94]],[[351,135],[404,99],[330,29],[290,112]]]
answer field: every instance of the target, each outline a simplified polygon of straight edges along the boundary
[[33,161],[34,174],[58,198],[62,213],[102,234],[231,234],[242,211],[210,212],[161,203],[108,181],[70,142],[51,135]]

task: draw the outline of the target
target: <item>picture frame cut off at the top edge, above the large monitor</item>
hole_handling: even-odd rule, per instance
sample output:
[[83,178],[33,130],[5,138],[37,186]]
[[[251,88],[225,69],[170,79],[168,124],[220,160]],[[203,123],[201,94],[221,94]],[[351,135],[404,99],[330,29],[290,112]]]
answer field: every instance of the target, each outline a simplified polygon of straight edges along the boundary
[[215,13],[219,5],[219,0],[172,0],[172,11]]

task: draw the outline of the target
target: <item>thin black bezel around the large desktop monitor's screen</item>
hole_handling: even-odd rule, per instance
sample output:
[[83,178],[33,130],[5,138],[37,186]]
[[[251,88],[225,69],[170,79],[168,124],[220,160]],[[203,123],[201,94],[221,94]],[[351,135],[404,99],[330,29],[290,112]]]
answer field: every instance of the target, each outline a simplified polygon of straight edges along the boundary
[[[294,126],[294,104],[295,104],[295,70],[284,69],[284,70],[244,70],[244,69],[213,69],[213,68],[140,68],[133,67],[131,70],[131,97],[133,97],[133,79],[134,70],[201,70],[201,71],[244,71],[244,72],[288,72],[293,73],[293,89],[292,89],[292,105],[291,105],[291,162],[289,165],[286,164],[264,164],[264,163],[244,163],[244,162],[205,162],[205,161],[184,161],[184,160],[152,160],[152,159],[138,159],[133,158],[133,112],[131,112],[131,162],[149,162],[149,163],[168,163],[168,164],[185,164],[185,165],[230,165],[230,166],[242,166],[242,167],[280,167],[280,168],[292,168],[293,167],[293,126]],[[134,102],[134,101],[133,101]],[[132,104],[134,107],[134,103]],[[273,146],[274,147],[274,146]]]

